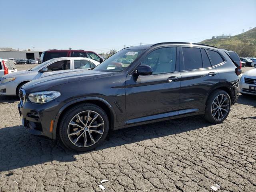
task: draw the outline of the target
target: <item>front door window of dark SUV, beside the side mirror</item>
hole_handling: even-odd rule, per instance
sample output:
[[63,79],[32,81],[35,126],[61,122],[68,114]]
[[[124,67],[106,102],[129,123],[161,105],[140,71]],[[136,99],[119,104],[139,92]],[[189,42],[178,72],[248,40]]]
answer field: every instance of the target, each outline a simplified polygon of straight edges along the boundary
[[176,47],[154,50],[142,60],[142,64],[151,66],[153,74],[174,72]]

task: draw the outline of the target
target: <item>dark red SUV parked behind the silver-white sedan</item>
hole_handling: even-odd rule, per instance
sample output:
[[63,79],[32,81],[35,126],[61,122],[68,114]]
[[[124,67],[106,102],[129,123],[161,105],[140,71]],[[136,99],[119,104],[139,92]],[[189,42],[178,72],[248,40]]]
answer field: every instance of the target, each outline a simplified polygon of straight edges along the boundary
[[93,60],[96,60],[98,62],[102,62],[104,58],[102,58],[100,55],[96,54],[92,51],[84,51],[84,50],[47,50],[44,51],[40,57],[41,62],[45,62],[47,60],[50,60],[52,58],[58,58],[58,57],[87,57]]

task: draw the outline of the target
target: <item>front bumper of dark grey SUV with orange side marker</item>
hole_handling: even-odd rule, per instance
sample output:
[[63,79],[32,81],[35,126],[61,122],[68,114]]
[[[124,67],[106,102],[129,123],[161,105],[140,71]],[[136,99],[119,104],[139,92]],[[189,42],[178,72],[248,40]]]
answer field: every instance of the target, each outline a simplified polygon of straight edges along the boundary
[[[32,103],[29,100],[18,104],[18,110],[22,117],[22,125],[30,134],[53,138],[53,129],[58,111],[64,104],[58,101],[50,101],[45,104]],[[53,121],[53,122],[52,122]]]

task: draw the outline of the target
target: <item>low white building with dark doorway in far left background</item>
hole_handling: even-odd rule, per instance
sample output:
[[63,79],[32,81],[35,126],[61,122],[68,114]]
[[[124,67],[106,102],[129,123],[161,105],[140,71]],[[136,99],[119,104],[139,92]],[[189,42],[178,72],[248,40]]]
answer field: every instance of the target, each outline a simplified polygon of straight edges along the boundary
[[40,58],[42,51],[1,51],[0,58],[8,59],[36,59]]

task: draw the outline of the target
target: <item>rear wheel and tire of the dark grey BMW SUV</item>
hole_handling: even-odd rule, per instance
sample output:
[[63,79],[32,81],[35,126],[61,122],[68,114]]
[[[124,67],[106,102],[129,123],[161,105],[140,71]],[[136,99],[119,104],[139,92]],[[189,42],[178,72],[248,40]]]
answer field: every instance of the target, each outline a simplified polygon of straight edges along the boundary
[[210,123],[221,123],[227,118],[230,107],[231,100],[228,93],[224,90],[214,90],[214,92],[208,96],[204,118]]

